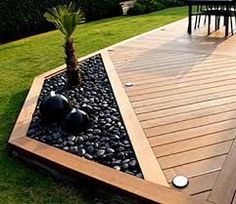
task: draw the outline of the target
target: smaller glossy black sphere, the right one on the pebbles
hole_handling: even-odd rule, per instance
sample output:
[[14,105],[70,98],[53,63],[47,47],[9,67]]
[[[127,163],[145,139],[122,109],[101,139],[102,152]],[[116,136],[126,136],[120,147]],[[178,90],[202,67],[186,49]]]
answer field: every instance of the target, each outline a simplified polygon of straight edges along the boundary
[[73,109],[65,118],[63,127],[67,132],[79,133],[89,127],[89,116],[82,110]]

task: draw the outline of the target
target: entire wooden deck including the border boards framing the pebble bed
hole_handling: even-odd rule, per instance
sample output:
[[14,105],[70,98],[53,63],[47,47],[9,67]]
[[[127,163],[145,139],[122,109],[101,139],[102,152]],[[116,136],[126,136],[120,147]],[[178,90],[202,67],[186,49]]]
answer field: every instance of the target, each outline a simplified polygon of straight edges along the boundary
[[[206,28],[189,36],[186,25],[178,21],[80,59],[102,56],[144,179],[26,136],[44,80],[65,65],[35,78],[10,147],[147,203],[236,204],[236,37],[206,37]],[[174,188],[176,175],[187,176],[188,187]]]

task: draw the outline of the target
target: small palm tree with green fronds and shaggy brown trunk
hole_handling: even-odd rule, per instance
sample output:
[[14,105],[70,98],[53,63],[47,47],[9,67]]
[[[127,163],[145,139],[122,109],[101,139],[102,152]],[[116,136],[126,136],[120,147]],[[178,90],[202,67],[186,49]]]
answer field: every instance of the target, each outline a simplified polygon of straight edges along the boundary
[[73,46],[72,34],[75,31],[77,24],[82,19],[82,13],[80,10],[76,10],[75,5],[70,3],[69,5],[59,5],[44,14],[47,21],[52,22],[58,30],[65,36],[65,62],[66,62],[66,74],[68,83],[71,86],[80,84],[80,70],[79,64],[75,56],[75,50]]

